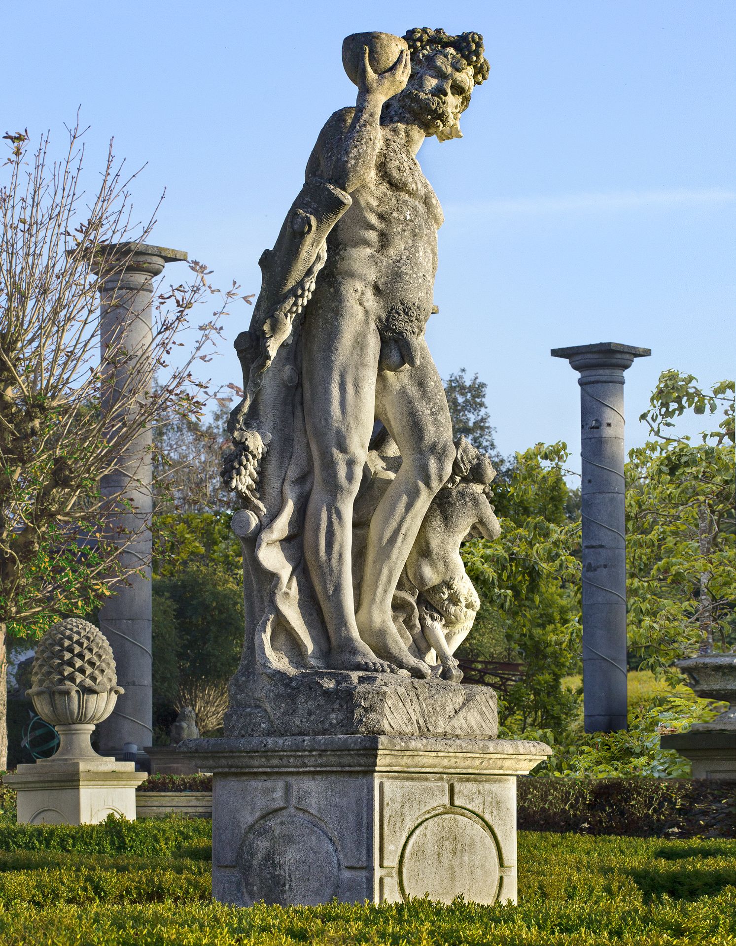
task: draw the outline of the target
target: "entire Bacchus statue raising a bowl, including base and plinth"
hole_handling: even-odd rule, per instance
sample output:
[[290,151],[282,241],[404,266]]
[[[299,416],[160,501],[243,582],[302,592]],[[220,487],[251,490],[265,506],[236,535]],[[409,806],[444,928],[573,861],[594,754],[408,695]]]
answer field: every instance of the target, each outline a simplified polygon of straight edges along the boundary
[[460,137],[488,63],[477,34],[431,29],[349,36],[342,63],[357,104],[320,132],[236,340],[246,628],[223,738],[177,751],[215,780],[220,902],[506,902],[516,776],[552,750],[498,740],[496,694],[454,656],[496,471],[453,443],[425,342],[442,211],[416,160]]

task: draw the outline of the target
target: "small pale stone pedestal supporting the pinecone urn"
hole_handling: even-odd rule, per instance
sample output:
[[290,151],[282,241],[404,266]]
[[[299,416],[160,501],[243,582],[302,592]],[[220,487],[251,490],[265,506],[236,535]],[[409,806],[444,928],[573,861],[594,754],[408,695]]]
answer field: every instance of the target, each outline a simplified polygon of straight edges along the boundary
[[19,765],[4,781],[18,793],[19,824],[80,825],[96,824],[108,815],[133,821],[135,789],[147,778],[135,771],[134,762],[97,756]]

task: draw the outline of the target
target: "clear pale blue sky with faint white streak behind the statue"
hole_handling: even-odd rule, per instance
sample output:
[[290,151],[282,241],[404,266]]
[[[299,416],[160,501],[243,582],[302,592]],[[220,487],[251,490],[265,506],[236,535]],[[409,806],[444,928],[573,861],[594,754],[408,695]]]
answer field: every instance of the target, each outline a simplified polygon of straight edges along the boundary
[[[141,217],[166,187],[155,241],[247,292],[324,120],[354,101],[343,36],[481,32],[491,73],[464,139],[419,154],[446,215],[428,329],[441,374],[487,382],[502,452],[563,439],[573,466],[576,376],[550,348],[652,348],[626,376],[628,446],[662,369],[733,377],[732,0],[34,0],[3,20],[2,131],[50,129],[61,149],[80,105],[89,169],[114,136],[147,164]],[[230,345],[249,317],[226,326],[223,382],[239,380]]]

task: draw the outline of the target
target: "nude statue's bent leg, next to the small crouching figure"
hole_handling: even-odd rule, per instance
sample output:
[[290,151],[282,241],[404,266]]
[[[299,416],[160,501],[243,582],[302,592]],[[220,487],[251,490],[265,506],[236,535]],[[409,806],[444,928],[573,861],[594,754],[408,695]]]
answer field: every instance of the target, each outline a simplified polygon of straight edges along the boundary
[[[455,459],[445,389],[427,343],[422,339],[420,344],[416,367],[378,373],[377,415],[394,437],[402,463],[371,519],[356,616],[360,637],[392,662],[406,653],[392,619],[394,590],[429,503],[447,482]],[[429,675],[426,664],[408,669]]]

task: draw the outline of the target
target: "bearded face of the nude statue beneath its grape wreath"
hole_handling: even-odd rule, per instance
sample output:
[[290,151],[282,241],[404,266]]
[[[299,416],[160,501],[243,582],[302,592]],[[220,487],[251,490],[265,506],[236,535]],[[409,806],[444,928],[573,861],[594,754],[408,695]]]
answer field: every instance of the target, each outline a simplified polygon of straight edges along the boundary
[[396,104],[427,135],[440,141],[462,137],[460,115],[470,102],[473,70],[451,52],[426,53]]

